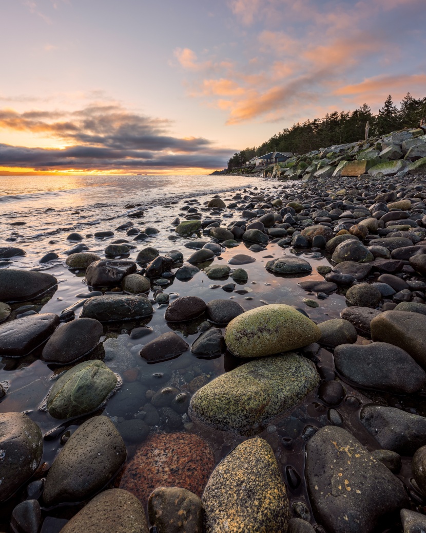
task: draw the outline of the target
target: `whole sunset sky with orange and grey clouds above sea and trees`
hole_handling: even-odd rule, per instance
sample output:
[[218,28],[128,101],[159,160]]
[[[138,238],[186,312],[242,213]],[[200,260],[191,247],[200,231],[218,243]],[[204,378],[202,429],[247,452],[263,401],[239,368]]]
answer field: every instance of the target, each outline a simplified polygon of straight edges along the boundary
[[426,95],[425,0],[0,0],[0,174],[203,174]]

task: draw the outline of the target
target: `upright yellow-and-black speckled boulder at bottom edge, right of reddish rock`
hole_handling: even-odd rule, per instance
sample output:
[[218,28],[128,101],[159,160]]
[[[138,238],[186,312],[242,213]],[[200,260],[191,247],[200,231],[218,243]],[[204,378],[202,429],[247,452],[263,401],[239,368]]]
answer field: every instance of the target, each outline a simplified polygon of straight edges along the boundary
[[207,533],[281,533],[290,507],[269,444],[259,437],[237,446],[211,474],[203,494]]

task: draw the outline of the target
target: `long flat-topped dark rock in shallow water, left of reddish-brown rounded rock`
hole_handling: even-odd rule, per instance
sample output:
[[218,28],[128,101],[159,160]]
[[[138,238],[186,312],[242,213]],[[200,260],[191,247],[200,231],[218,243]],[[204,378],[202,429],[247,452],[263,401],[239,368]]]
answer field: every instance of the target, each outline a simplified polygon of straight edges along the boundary
[[152,305],[148,298],[118,294],[88,298],[83,304],[80,317],[110,322],[149,317],[152,312]]

